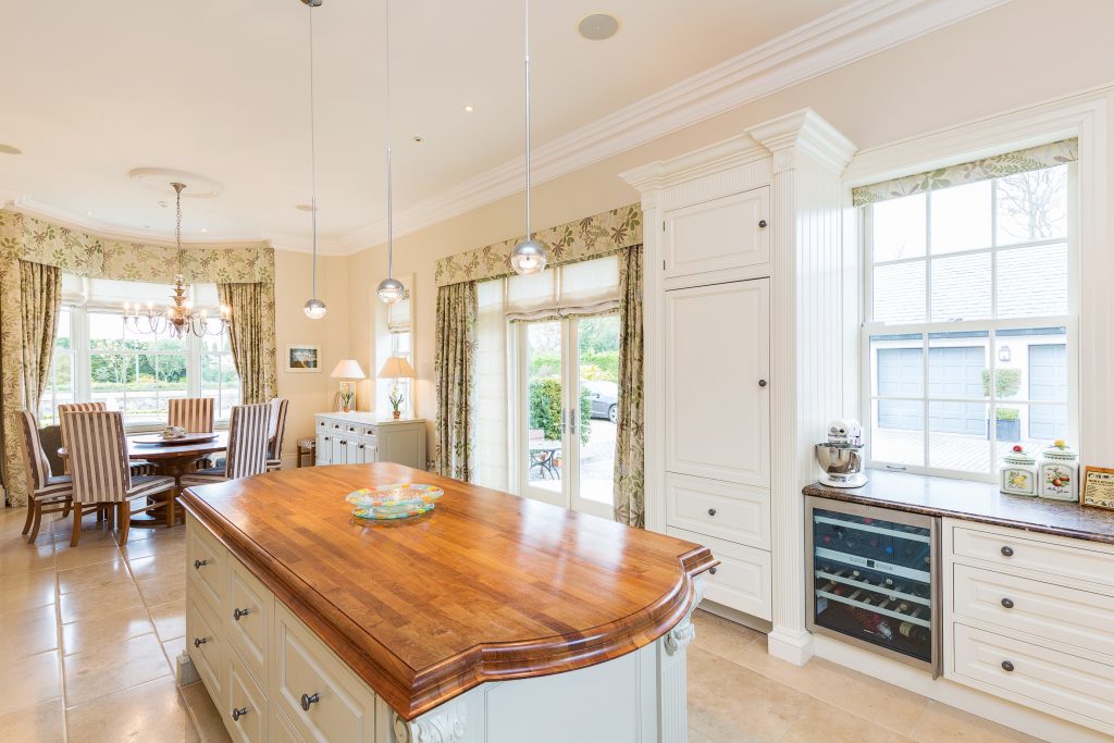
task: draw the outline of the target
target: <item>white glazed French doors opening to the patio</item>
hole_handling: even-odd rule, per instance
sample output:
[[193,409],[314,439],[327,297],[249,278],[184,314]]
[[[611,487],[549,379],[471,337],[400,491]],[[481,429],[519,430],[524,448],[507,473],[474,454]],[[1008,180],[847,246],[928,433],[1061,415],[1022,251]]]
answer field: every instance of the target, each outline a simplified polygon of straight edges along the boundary
[[518,491],[610,519],[619,316],[516,324]]

